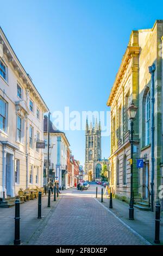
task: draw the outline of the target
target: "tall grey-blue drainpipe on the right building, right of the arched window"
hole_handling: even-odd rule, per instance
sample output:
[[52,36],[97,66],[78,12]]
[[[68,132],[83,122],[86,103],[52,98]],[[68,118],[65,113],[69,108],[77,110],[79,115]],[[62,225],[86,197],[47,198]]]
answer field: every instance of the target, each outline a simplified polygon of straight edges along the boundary
[[148,67],[149,73],[151,74],[151,163],[152,163],[152,174],[151,174],[151,211],[154,208],[154,72],[155,64]]

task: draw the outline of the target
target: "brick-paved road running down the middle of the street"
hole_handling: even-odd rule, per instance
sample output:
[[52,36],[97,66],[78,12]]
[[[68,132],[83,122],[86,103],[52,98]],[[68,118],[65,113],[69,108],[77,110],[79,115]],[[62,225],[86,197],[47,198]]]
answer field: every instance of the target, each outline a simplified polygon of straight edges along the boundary
[[65,194],[36,245],[146,245],[92,197]]

